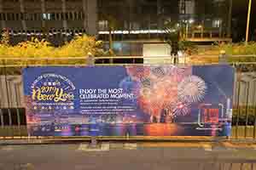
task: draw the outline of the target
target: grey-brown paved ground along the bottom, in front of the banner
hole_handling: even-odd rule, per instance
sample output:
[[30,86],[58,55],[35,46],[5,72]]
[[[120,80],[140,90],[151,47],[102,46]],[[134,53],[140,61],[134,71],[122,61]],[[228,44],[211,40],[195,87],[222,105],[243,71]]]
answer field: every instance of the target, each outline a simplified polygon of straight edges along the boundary
[[256,170],[256,150],[205,143],[0,145],[0,170],[25,169]]

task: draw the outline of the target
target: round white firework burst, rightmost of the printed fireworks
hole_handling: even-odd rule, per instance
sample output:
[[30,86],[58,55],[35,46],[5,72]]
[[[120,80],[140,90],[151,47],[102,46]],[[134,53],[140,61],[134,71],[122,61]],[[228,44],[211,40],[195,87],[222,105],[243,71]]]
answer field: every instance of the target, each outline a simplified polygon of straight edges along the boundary
[[207,92],[207,84],[201,77],[185,77],[177,85],[178,99],[184,103],[200,102]]

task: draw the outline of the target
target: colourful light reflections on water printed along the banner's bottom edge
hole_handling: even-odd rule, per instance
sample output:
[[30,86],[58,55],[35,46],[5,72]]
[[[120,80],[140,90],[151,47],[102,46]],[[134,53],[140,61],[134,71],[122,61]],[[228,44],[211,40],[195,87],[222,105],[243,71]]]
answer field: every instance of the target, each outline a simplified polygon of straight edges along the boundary
[[[32,136],[221,136],[227,128],[210,127],[199,130],[197,124],[150,123],[150,124],[83,124],[29,126]],[[214,131],[214,132],[213,132]]]

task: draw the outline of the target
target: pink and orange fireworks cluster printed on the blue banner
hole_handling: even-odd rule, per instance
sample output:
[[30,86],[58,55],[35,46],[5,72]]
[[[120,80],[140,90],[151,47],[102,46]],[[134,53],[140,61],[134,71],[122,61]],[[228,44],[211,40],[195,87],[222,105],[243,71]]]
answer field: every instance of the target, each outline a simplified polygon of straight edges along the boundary
[[163,111],[171,117],[188,115],[190,104],[201,101],[206,93],[205,82],[192,76],[191,67],[130,66],[127,72],[132,81],[141,85],[139,90],[133,88],[139,92],[138,105],[158,121]]

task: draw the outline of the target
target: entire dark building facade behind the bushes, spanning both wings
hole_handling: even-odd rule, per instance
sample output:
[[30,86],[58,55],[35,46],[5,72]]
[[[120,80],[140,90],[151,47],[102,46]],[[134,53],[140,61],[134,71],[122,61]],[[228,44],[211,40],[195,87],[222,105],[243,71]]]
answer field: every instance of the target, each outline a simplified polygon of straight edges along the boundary
[[[86,33],[108,41],[160,39],[171,22],[189,41],[230,41],[230,0],[0,0],[11,40],[44,37],[56,45]],[[111,28],[111,29],[110,29]]]

